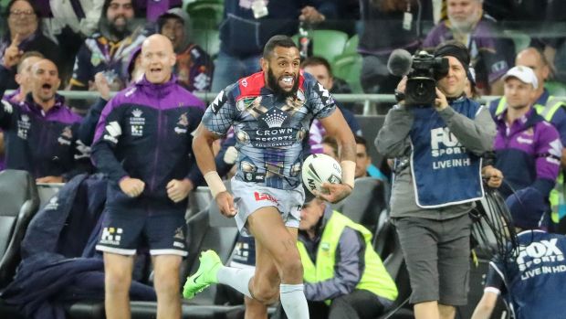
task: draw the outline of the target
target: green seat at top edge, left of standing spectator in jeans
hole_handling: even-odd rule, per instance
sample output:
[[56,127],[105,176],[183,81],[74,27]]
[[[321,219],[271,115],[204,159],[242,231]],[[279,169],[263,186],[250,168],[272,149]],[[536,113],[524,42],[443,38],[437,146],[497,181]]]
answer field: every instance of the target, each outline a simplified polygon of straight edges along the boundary
[[193,28],[216,29],[224,15],[224,4],[216,0],[198,0],[187,5]]

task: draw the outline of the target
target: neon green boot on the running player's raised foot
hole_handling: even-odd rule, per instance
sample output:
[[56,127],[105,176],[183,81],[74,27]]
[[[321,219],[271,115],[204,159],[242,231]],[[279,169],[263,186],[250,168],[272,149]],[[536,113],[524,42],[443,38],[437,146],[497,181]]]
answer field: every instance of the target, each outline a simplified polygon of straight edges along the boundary
[[222,267],[222,261],[215,250],[206,250],[201,253],[198,270],[187,278],[183,286],[183,297],[191,299],[198,292],[204,291],[212,283],[217,283],[216,273]]

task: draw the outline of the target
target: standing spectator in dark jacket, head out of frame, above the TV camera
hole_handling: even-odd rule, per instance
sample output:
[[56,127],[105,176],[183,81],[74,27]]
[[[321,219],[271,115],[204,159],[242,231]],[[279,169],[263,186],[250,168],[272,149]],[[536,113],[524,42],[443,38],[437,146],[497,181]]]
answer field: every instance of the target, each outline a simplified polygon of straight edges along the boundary
[[431,1],[362,0],[361,10],[363,91],[391,94],[400,79],[387,70],[387,59],[395,48],[414,53],[420,47],[426,22],[433,21]]

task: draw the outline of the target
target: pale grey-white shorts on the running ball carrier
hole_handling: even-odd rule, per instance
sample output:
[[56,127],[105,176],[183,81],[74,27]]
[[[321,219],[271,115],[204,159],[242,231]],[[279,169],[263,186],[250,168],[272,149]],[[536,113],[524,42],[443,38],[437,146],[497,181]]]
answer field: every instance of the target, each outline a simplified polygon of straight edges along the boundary
[[236,225],[243,235],[250,236],[246,229],[247,217],[261,207],[278,208],[285,226],[299,228],[300,209],[305,202],[303,186],[295,189],[278,189],[232,178],[231,187],[237,208]]

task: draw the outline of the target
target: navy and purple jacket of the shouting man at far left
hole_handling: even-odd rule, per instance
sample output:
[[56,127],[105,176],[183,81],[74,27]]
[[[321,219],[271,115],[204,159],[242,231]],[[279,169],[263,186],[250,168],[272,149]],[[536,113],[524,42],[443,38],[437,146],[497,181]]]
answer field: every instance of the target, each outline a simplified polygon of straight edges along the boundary
[[77,144],[80,120],[59,95],[47,112],[31,94],[21,102],[2,100],[5,168],[25,170],[36,178],[53,175],[68,179],[75,175],[80,162],[89,162],[86,148]]

